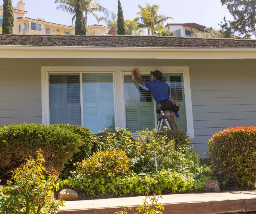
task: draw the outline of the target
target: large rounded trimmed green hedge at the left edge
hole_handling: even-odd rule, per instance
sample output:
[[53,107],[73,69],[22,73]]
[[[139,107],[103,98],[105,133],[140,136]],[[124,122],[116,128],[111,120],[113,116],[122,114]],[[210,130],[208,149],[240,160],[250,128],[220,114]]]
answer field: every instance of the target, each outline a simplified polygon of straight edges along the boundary
[[55,125],[18,124],[0,127],[0,174],[16,169],[35,151],[44,151],[45,167],[62,171],[81,146],[81,136]]

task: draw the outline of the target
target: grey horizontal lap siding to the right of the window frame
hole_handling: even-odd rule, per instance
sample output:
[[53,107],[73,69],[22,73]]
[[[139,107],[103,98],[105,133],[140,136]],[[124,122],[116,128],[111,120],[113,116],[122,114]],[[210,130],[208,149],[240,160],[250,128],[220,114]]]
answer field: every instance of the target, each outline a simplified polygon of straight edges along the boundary
[[191,141],[200,154],[207,154],[212,134],[256,125],[255,62],[193,64],[190,83],[195,135]]

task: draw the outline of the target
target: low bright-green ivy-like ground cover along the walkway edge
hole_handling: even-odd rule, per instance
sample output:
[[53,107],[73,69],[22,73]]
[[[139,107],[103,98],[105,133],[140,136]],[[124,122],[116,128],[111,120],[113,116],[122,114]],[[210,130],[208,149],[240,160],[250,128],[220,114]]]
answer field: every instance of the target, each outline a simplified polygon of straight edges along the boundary
[[173,172],[162,169],[159,174],[147,174],[140,177],[136,173],[117,175],[113,177],[92,175],[74,175],[66,180],[59,179],[62,188],[72,188],[85,195],[138,195],[145,192],[158,191],[192,191],[203,190],[205,180],[209,176],[195,177],[191,173]]

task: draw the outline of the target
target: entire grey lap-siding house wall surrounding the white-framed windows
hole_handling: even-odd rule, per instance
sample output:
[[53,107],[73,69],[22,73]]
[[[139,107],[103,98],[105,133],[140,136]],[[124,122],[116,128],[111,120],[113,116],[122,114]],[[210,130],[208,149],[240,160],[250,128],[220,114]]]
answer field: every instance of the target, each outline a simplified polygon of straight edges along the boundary
[[0,58],[0,124],[42,122],[41,66],[188,66],[199,153],[230,126],[256,125],[256,59]]

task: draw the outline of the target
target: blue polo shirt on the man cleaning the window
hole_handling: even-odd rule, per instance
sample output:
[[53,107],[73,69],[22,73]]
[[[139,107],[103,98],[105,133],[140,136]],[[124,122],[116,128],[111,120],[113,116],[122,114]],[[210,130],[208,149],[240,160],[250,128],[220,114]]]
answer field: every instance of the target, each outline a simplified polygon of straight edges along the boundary
[[162,80],[154,80],[154,81],[145,81],[145,86],[151,90],[151,93],[156,100],[156,102],[160,102],[161,100],[170,99],[168,92],[170,91],[170,87],[168,84]]

